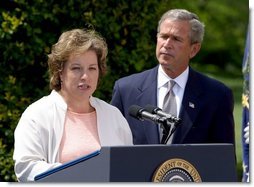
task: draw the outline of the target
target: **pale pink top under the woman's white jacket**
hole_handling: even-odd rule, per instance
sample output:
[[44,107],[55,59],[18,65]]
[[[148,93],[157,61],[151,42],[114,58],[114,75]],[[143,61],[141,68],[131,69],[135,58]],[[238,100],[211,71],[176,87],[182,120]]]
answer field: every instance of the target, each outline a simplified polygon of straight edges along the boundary
[[96,111],[91,113],[67,111],[60,144],[60,162],[71,161],[100,148]]

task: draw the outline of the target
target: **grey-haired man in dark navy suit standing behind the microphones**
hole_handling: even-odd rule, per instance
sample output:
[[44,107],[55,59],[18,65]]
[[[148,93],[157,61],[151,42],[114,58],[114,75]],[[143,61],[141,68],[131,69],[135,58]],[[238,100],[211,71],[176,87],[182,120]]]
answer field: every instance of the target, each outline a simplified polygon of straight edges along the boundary
[[[232,91],[217,80],[196,72],[189,61],[200,50],[204,24],[183,9],[166,12],[157,29],[159,65],[115,82],[111,104],[120,109],[133,133],[134,144],[159,144],[153,122],[131,117],[131,105],[163,108],[168,81],[174,80],[176,116],[182,119],[172,144],[235,143]],[[167,111],[164,111],[167,112]]]

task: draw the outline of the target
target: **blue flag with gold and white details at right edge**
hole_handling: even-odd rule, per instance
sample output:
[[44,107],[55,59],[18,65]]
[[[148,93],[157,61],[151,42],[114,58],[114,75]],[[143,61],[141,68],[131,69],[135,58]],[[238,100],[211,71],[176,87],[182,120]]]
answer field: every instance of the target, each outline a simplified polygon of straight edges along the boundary
[[242,146],[243,146],[243,182],[249,182],[249,80],[250,80],[250,32],[246,37],[245,51],[242,64],[243,72],[243,94],[242,94]]

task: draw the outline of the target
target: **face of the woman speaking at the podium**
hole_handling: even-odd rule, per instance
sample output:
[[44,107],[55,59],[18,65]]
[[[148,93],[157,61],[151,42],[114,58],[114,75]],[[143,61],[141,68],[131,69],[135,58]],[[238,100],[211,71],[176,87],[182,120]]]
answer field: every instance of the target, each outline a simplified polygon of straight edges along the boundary
[[96,53],[86,51],[81,55],[71,55],[60,73],[61,92],[68,101],[84,101],[94,93],[99,79]]

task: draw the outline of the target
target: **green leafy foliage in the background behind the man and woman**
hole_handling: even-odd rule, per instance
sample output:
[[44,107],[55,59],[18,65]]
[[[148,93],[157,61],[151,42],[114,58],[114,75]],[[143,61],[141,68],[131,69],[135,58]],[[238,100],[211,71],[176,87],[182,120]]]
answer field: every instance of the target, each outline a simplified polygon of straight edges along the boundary
[[[0,2],[0,180],[15,181],[13,132],[20,115],[49,93],[47,54],[60,34],[94,27],[106,38],[108,74],[96,96],[110,101],[114,81],[157,64],[157,23],[166,10],[186,8],[206,24],[196,67],[240,68],[247,0],[4,0]],[[233,67],[233,68],[232,68]]]

